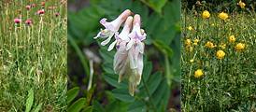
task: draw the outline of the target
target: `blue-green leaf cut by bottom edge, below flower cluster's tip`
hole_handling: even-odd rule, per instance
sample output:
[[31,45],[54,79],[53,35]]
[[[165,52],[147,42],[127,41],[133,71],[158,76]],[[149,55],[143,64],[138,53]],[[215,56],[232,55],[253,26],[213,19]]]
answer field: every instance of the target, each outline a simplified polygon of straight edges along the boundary
[[146,105],[142,101],[135,101],[129,106],[128,112],[146,112]]

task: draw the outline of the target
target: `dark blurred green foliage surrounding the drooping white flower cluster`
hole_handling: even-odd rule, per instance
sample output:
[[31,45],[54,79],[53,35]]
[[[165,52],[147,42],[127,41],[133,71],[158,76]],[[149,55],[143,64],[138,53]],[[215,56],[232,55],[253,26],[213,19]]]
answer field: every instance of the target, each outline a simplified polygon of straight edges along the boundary
[[[114,20],[127,8],[141,16],[147,34],[135,97],[129,95],[127,81],[119,84],[113,72],[116,49],[108,52],[93,40],[103,28],[100,19]],[[179,0],[70,0],[67,35],[69,111],[180,111]],[[90,61],[94,74],[88,90]]]

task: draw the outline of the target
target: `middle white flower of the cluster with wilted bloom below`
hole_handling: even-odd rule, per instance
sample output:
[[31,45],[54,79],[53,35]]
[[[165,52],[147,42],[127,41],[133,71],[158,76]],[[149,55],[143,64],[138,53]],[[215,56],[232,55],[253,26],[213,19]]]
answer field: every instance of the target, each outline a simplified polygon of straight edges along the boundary
[[[122,76],[124,74],[128,74],[129,69],[129,60],[128,58],[128,51],[126,50],[126,44],[130,41],[128,34],[132,28],[133,17],[128,17],[124,23],[124,27],[121,31],[121,34],[116,34],[116,40],[109,46],[109,50],[113,49],[114,46],[117,44],[117,52],[114,57],[114,71],[116,74],[119,75],[119,82],[121,82]],[[107,50],[108,50],[107,49]]]

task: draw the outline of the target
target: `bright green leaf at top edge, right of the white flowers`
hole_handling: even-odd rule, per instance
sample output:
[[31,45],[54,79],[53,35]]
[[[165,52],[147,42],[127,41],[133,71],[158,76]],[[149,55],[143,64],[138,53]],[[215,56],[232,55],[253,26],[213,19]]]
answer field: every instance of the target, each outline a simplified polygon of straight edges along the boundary
[[158,13],[162,12],[162,7],[164,7],[164,5],[167,2],[167,0],[141,0],[141,1]]

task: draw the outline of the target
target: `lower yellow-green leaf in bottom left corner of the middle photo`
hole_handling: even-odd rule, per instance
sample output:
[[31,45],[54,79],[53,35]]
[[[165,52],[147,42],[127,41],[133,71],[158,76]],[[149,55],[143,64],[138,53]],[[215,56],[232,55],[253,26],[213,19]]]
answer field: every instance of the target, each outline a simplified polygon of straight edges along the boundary
[[67,112],[79,112],[85,106],[85,103],[86,99],[80,98],[67,108]]

